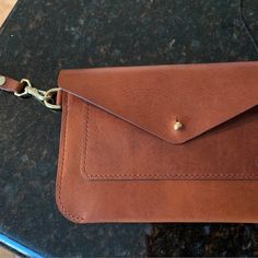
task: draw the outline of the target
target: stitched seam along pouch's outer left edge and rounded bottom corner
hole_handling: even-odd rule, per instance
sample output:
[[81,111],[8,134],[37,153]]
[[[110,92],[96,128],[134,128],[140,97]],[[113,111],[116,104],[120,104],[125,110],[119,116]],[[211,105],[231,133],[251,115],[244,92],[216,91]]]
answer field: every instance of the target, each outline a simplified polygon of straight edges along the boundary
[[85,220],[84,216],[77,216],[77,215],[73,215],[71,212],[69,212],[68,210],[66,210],[64,206],[63,206],[63,202],[62,202],[62,199],[61,199],[61,192],[62,192],[62,176],[63,176],[63,164],[64,164],[64,151],[66,151],[66,144],[67,144],[67,127],[68,127],[68,113],[69,113],[69,95],[67,95],[66,97],[67,99],[63,101],[63,104],[64,104],[64,114],[63,114],[63,136],[62,136],[62,139],[61,141],[63,142],[63,145],[62,145],[62,157],[61,157],[61,167],[60,167],[60,174],[59,174],[59,184],[58,184],[58,200],[59,200],[59,203],[60,203],[60,208],[63,212],[63,214],[66,214],[68,218],[70,219],[75,219],[78,221],[83,221]]

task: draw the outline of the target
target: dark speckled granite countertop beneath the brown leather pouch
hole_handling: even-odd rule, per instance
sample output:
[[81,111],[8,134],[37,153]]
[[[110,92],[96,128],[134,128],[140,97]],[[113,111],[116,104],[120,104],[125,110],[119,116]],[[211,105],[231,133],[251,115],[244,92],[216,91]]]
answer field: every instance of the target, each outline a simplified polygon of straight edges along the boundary
[[[258,1],[245,5],[258,36]],[[0,72],[42,89],[62,68],[235,60],[258,60],[238,0],[20,0],[0,31]],[[258,256],[255,224],[70,223],[55,203],[59,127],[0,93],[0,233],[45,256]]]

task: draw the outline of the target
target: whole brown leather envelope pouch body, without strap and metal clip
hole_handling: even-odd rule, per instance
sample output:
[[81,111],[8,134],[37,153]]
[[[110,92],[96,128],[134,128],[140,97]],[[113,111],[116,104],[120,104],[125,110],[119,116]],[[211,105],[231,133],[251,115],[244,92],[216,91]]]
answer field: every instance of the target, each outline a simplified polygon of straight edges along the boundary
[[[258,62],[189,64],[180,67],[184,72],[179,73],[174,72],[177,67],[109,68],[107,73],[110,75],[105,80],[105,69],[60,73],[63,114],[57,203],[69,220],[78,223],[258,221],[258,86],[255,86]],[[141,102],[133,102],[134,95],[128,94],[130,102],[124,106],[125,98],[119,99],[118,94],[125,91],[120,83],[121,70],[125,74],[130,72],[133,78],[133,71],[139,74],[139,70],[146,72],[149,68],[152,80],[145,85],[148,91],[143,91],[144,80],[131,79],[128,83],[125,75],[125,85],[130,87],[128,93],[134,94],[138,87],[141,89]],[[163,69],[166,78],[172,69],[174,81],[181,90],[172,80],[160,80],[157,73],[164,74]],[[197,72],[198,69],[201,73]],[[181,77],[183,73],[186,78]],[[201,78],[192,79],[197,73],[203,78],[204,85]],[[218,73],[220,77],[212,75]],[[94,86],[94,80],[99,87]],[[164,106],[173,107],[167,102],[173,102],[175,107],[181,102],[175,97],[178,91],[185,93],[183,96],[188,94],[184,105],[179,104],[180,112],[190,115],[192,109],[195,116],[202,116],[194,125],[198,130],[190,129],[194,120],[184,120],[188,121],[187,126],[176,133],[187,137],[171,139],[187,140],[172,144],[169,139],[162,139],[167,129],[148,122],[152,115],[157,124],[163,122],[164,110],[169,112]],[[168,95],[171,92],[175,94]],[[212,98],[209,93],[213,94]],[[199,103],[195,107],[191,99],[197,97]],[[227,99],[231,105],[221,103],[222,99]],[[136,117],[130,110],[133,105],[139,108]],[[161,107],[160,116],[151,112],[152,105]],[[208,110],[203,112],[201,107]],[[139,122],[139,114],[144,114],[144,129]],[[177,113],[172,110],[171,114]],[[203,128],[209,128],[204,134]],[[153,131],[157,129],[160,134]]]

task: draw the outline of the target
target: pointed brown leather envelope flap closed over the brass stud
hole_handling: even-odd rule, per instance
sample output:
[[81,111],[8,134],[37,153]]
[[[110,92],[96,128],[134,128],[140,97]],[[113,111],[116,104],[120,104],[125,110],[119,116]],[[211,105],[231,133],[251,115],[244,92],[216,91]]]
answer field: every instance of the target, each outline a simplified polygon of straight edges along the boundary
[[184,143],[258,105],[258,62],[62,70],[59,86],[165,141]]

